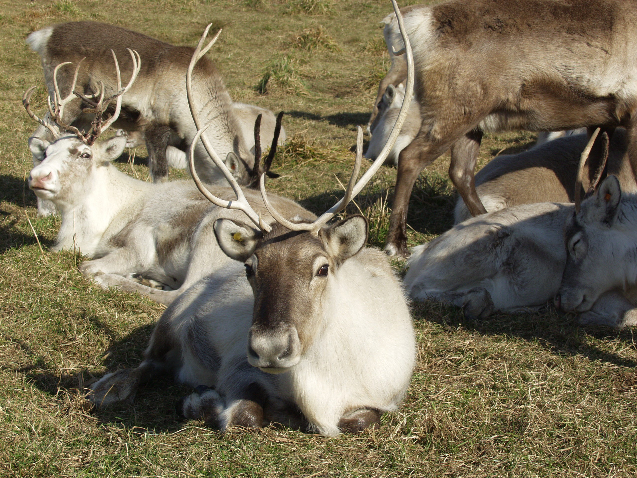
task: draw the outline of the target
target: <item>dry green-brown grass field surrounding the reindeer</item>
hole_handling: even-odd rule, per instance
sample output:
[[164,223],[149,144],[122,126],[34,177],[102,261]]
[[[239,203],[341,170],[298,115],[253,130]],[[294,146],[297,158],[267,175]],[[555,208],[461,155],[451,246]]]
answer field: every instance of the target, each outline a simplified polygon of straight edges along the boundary
[[[401,2],[401,5],[405,2]],[[83,386],[141,358],[162,307],[104,292],[57,254],[59,219],[36,219],[25,185],[35,129],[22,93],[38,85],[25,36],[89,19],[195,45],[206,24],[224,32],[209,54],[234,99],[285,110],[290,141],[270,189],[320,213],[340,194],[389,68],[379,0],[0,0],[0,474],[24,477],[629,477],[637,474],[637,350],[632,330],[580,328],[547,308],[471,322],[434,303],[413,306],[419,360],[404,406],[378,430],[325,438],[266,428],[218,433],[178,421],[189,393],[168,379],[134,405],[95,412]],[[266,81],[267,79],[267,81]],[[528,147],[528,133],[490,135],[480,164]],[[132,152],[131,152],[132,153]],[[140,164],[118,163],[147,178]],[[408,223],[415,245],[452,224],[448,158],[420,177]],[[171,171],[181,177],[182,171]],[[396,170],[382,168],[350,205],[382,245]],[[29,224],[29,219],[32,224]],[[40,249],[34,231],[41,242]],[[396,263],[397,268],[401,268]]]

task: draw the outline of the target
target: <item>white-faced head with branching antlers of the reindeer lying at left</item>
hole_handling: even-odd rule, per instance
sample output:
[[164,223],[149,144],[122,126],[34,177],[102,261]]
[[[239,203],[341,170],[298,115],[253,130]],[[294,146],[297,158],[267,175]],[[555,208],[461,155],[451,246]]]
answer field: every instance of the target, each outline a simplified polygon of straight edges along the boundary
[[[25,92],[22,97],[22,103],[27,113],[39,124],[46,127],[55,138],[52,143],[35,136],[29,138],[29,148],[33,155],[34,164],[36,164],[29,176],[29,187],[39,198],[69,201],[74,196],[83,194],[89,187],[92,173],[97,168],[108,166],[110,161],[119,157],[124,151],[126,145],[125,136],[115,136],[115,138],[106,141],[96,142],[96,140],[103,131],[106,131],[117,120],[122,108],[122,95],[131,89],[132,83],[140,72],[140,55],[133,50],[129,49],[128,51],[132,57],[133,73],[129,83],[122,88],[117,56],[111,50],[117,72],[117,92],[108,98],[104,98],[103,85],[92,96],[85,96],[75,91],[78,71],[82,61],[75,68],[73,83],[69,94],[65,98],[62,98],[60,94],[57,84],[57,72],[62,66],[70,64],[70,62],[61,63],[55,67],[53,73],[54,98],[48,98],[49,111],[44,119],[40,119],[31,112],[29,104],[31,95],[36,87],[32,87]],[[85,112],[90,112],[94,115],[94,120],[88,133],[64,123],[64,106],[76,97],[82,98],[85,103],[89,104],[91,108],[87,108]],[[117,99],[115,112],[104,119],[106,108],[108,108],[113,99]]]

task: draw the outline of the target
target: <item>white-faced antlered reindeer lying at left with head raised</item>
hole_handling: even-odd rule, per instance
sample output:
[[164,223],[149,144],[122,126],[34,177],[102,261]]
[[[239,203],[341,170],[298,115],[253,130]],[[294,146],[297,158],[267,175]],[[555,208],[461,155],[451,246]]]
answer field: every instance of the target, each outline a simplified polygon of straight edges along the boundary
[[[29,187],[38,198],[52,201],[62,215],[61,228],[52,249],[79,250],[92,259],[82,263],[80,271],[103,287],[137,291],[168,305],[190,284],[229,262],[217,245],[212,225],[220,217],[238,219],[241,215],[211,206],[190,181],[147,183],[125,175],[110,163],[122,154],[127,139],[115,136],[109,140],[96,140],[117,120],[122,96],[131,89],[136,72],[141,69],[139,55],[136,52],[131,55],[137,62],[134,75],[124,89],[118,80],[117,106],[110,118],[104,121],[102,117],[108,102],[114,98],[104,99],[104,90],[92,95],[101,101],[94,105],[94,126],[87,134],[78,129],[73,134],[68,133],[68,126],[60,120],[72,94],[61,98],[59,89],[55,89],[51,113],[58,121],[56,124],[32,113],[29,99],[33,88],[25,93],[27,113],[57,138],[52,143],[30,138],[29,147],[38,158],[38,166],[31,171]],[[113,59],[117,71],[114,53]],[[120,78],[119,71],[117,78]],[[259,136],[258,124],[255,136]],[[276,152],[277,136],[278,132],[264,162],[268,170]],[[191,149],[195,154],[194,148]],[[259,158],[255,158],[254,164],[261,168],[261,148],[256,149]],[[234,176],[233,181],[236,181]],[[233,191],[223,186],[215,186],[212,190],[222,197]],[[263,210],[264,219],[270,218],[257,191],[247,190],[241,197]],[[166,198],[170,200],[166,201]],[[312,217],[294,201],[278,197],[274,201],[286,217]],[[138,284],[132,280],[136,275],[169,290]]]

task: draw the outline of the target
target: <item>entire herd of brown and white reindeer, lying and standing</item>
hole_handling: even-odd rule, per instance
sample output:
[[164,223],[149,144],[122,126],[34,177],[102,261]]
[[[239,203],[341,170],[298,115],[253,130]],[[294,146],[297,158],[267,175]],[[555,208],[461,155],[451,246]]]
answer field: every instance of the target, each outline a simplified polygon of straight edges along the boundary
[[[23,98],[39,123],[29,187],[39,214],[62,217],[53,249],[168,306],[141,364],[92,385],[96,407],[168,373],[195,389],[185,418],[334,436],[376,426],[406,393],[408,296],[477,319],[554,300],[583,324],[637,324],[637,2],[392,3],[373,163],[359,178],[359,127],[345,194],[320,217],[266,192],[282,113],[233,103],[205,56],[220,31],[194,49],[94,22],[29,35],[49,93],[43,117],[33,89]],[[485,132],[576,128],[474,177]],[[150,183],[111,164],[141,142]],[[455,226],[415,247],[401,280],[387,254],[409,255],[413,184],[449,148]],[[385,163],[398,169],[387,254],[366,247],[362,215],[328,224]],[[169,164],[192,180],[167,181]]]

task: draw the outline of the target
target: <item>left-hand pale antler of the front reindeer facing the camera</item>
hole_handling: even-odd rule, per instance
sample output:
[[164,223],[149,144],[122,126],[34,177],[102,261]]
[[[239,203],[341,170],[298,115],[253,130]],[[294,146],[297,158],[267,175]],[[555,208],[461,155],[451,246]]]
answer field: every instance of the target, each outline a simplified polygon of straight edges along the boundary
[[[199,108],[197,108],[194,95],[192,94],[192,71],[194,70],[197,62],[201,59],[201,57],[203,57],[203,55],[206,54],[206,52],[208,52],[208,50],[210,50],[212,45],[215,44],[215,41],[217,41],[217,38],[219,38],[219,35],[221,34],[221,30],[219,30],[217,34],[214,36],[214,38],[210,40],[210,43],[208,43],[208,45],[206,45],[205,48],[202,48],[203,43],[206,40],[206,37],[208,36],[208,31],[210,31],[211,26],[212,24],[208,25],[208,27],[206,27],[206,31],[204,31],[203,35],[201,35],[201,39],[199,40],[199,43],[197,44],[197,48],[195,48],[195,51],[192,54],[192,58],[190,59],[190,64],[188,66],[188,71],[186,73],[186,93],[188,96],[188,106],[190,108],[190,114],[192,115],[192,120],[194,121],[195,126],[197,127],[197,134],[195,134],[195,137],[192,140],[192,144],[190,145],[190,150],[189,150],[190,174],[192,175],[192,179],[197,185],[197,189],[201,191],[201,194],[203,194],[206,197],[206,199],[208,199],[208,201],[213,203],[215,206],[219,206],[219,207],[227,208],[227,209],[238,209],[243,211],[245,215],[247,215],[250,218],[250,221],[254,222],[254,224],[257,227],[261,228],[262,231],[269,232],[271,231],[270,226],[268,226],[268,224],[265,224],[261,220],[261,214],[257,214],[254,211],[254,209],[252,209],[252,206],[250,206],[250,204],[248,203],[247,199],[245,198],[243,194],[243,191],[241,191],[241,187],[236,182],[236,179],[234,179],[232,173],[228,170],[227,166],[225,166],[225,163],[221,161],[220,157],[218,157],[217,153],[215,152],[212,145],[210,144],[210,141],[208,141],[208,138],[206,138],[206,136],[203,136],[204,131],[206,131],[206,129],[208,129],[208,126],[210,125],[202,125],[201,122],[199,121]],[[208,191],[206,186],[204,186],[201,180],[199,179],[199,175],[197,175],[197,171],[195,170],[195,163],[194,163],[194,150],[197,145],[197,141],[199,140],[201,140],[201,142],[203,143],[204,148],[206,148],[206,152],[208,152],[208,155],[211,157],[213,163],[215,163],[215,166],[219,168],[219,170],[223,173],[225,180],[227,180],[227,182],[232,187],[234,194],[236,196],[236,199],[234,199],[233,201],[225,201],[224,199],[217,198],[217,196],[215,196],[210,191]],[[255,148],[256,147],[257,145],[255,144]],[[261,146],[259,145],[259,149],[260,148]]]

